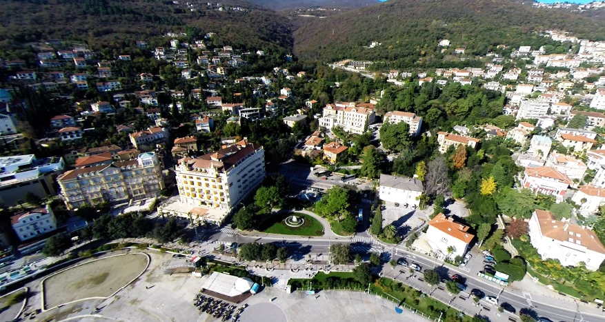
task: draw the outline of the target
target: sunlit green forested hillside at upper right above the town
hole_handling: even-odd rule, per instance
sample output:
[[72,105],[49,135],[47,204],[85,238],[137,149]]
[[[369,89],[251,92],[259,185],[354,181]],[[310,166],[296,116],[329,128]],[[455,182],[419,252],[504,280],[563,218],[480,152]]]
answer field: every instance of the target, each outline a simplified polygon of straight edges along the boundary
[[[350,10],[337,17],[309,21],[295,32],[295,51],[307,59],[344,58],[442,62],[439,39],[449,39],[466,54],[486,54],[506,44],[540,46],[548,42],[533,32],[559,29],[577,37],[605,39],[605,23],[568,12],[533,8],[513,0],[390,0]],[[372,41],[381,46],[364,48]]]

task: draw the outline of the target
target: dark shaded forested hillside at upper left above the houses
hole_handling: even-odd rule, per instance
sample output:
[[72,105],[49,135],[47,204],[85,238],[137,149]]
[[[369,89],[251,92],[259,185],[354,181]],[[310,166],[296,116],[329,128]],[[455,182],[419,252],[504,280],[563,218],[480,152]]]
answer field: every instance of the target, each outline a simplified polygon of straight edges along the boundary
[[[181,1],[183,2],[183,1]],[[248,1],[221,1],[245,11],[195,11],[161,0],[3,0],[0,48],[40,39],[87,41],[96,48],[123,48],[166,32],[215,32],[214,43],[236,48],[290,48],[290,24]]]

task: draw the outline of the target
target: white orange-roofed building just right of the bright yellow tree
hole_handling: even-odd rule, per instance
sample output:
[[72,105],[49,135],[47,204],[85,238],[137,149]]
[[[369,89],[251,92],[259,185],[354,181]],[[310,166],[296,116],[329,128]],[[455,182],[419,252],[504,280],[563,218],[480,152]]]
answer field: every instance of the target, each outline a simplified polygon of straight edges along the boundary
[[563,201],[563,195],[572,183],[569,177],[551,167],[526,168],[521,180],[522,188],[555,196],[557,203]]

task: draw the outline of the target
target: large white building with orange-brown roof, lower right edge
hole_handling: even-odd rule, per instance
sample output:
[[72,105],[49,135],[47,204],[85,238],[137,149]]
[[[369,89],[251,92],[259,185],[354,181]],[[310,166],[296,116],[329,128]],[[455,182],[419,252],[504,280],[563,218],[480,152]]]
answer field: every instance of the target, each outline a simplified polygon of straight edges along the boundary
[[561,265],[583,262],[588,270],[598,270],[605,259],[605,247],[592,230],[558,221],[551,212],[535,210],[529,221],[531,244],[542,259],[558,259]]

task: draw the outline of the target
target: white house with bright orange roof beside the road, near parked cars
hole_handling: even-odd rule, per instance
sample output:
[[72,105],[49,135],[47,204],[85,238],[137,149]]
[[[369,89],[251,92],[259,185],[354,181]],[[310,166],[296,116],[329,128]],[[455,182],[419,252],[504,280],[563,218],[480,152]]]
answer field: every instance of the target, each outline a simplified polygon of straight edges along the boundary
[[[431,255],[439,259],[454,259],[456,256],[464,256],[475,235],[468,232],[467,225],[455,222],[453,217],[437,214],[428,222],[425,238],[431,248]],[[450,247],[451,253],[448,252]]]

